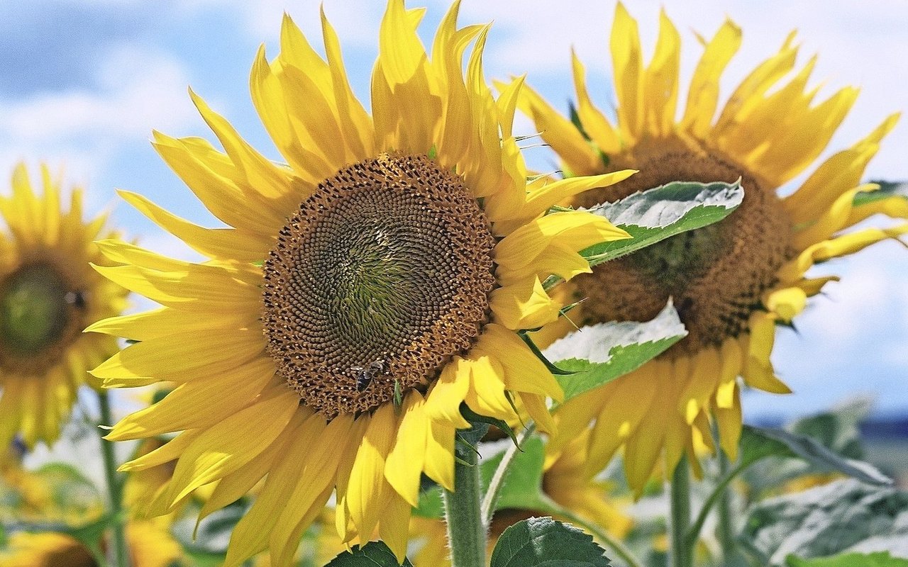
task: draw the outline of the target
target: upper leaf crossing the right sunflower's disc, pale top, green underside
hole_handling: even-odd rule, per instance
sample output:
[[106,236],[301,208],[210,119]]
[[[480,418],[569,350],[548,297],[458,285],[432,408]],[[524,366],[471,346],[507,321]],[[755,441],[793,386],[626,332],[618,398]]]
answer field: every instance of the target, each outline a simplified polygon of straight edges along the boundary
[[595,244],[581,252],[593,266],[621,258],[687,230],[725,219],[744,199],[741,183],[675,181],[590,209],[633,239]]

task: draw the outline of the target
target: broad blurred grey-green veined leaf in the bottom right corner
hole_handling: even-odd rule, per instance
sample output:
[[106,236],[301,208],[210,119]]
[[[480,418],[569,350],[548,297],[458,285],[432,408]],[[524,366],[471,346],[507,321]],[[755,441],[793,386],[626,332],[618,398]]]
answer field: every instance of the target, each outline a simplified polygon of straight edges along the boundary
[[854,479],[784,494],[751,506],[738,542],[770,566],[793,554],[893,550],[908,542],[908,494]]

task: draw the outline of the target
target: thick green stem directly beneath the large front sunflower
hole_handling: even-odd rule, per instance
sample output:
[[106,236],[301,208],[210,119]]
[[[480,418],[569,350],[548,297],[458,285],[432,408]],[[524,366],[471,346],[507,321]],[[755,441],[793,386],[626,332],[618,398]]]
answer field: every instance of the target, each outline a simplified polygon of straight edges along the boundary
[[444,491],[451,567],[485,567],[486,527],[479,509],[479,455],[467,451],[459,456],[463,463],[454,462],[454,492]]

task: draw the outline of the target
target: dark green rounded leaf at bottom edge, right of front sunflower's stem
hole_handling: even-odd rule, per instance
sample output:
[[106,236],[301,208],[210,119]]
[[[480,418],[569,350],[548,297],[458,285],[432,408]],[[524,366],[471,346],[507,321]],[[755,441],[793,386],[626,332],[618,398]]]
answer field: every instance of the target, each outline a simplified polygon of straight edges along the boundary
[[569,523],[529,518],[501,533],[491,567],[608,567],[604,553],[593,536]]

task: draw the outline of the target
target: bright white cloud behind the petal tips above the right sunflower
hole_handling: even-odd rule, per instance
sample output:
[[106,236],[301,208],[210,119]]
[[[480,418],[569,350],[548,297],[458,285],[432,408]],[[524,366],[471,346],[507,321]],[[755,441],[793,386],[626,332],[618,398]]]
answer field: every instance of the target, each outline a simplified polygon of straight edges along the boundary
[[[908,103],[898,86],[908,83],[908,58],[901,56],[908,53],[908,34],[901,24],[908,20],[908,3],[901,0],[839,1],[822,6],[784,0],[638,0],[627,3],[627,8],[639,24],[647,62],[656,43],[658,12],[663,5],[682,36],[682,85],[702,53],[693,31],[709,37],[725,15],[742,26],[744,42],[722,83],[725,96],[782,44],[790,30],[797,28],[798,41],[803,45],[801,62],[814,53],[820,55],[814,83],[824,84],[822,93],[834,93],[848,84],[862,88],[854,110],[830,144],[833,149],[856,142],[888,113],[903,110]],[[541,86],[559,107],[573,98],[569,57],[570,47],[575,46],[591,75],[595,102],[607,107],[611,103],[607,93],[597,91],[610,83],[608,40],[613,12],[612,2],[465,0],[461,21],[494,20],[486,56],[489,74],[528,72],[528,82]],[[908,179],[905,147],[908,126],[903,124],[883,143],[868,175]]]

